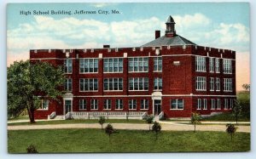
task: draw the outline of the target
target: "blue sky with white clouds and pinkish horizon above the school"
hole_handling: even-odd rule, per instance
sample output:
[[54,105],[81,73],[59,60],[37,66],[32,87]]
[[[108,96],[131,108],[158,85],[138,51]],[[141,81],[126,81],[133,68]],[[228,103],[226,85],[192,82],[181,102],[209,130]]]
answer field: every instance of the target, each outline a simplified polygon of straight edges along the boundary
[[9,3],[7,65],[27,60],[29,49],[138,47],[152,41],[155,30],[163,35],[172,15],[178,35],[197,45],[236,51],[236,88],[241,90],[250,82],[249,11],[249,3]]

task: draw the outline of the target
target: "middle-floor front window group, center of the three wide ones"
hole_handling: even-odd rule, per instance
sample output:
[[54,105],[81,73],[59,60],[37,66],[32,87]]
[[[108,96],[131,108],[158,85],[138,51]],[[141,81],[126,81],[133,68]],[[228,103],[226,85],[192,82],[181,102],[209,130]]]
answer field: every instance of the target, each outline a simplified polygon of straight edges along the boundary
[[104,90],[123,90],[123,78],[105,78]]

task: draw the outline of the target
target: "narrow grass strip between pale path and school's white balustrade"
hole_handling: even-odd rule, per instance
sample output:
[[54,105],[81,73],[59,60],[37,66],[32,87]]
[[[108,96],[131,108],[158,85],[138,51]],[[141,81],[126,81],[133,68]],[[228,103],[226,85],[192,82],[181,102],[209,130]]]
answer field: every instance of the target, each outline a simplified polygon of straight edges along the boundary
[[[46,125],[46,124],[70,124],[70,123],[99,123],[98,119],[84,119],[84,120],[55,120],[55,121],[38,121],[36,123],[33,123],[33,125]],[[129,119],[128,121],[126,119],[106,119],[106,123],[146,123],[143,120],[135,120],[135,119]],[[30,122],[14,122],[14,123],[8,123],[9,126],[13,125],[31,125]]]

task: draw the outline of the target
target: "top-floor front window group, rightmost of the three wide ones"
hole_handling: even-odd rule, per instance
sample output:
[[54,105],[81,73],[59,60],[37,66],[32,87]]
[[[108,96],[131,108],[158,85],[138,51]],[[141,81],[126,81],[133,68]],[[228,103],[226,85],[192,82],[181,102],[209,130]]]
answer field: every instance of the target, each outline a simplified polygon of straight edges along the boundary
[[129,71],[148,71],[148,58],[129,58]]

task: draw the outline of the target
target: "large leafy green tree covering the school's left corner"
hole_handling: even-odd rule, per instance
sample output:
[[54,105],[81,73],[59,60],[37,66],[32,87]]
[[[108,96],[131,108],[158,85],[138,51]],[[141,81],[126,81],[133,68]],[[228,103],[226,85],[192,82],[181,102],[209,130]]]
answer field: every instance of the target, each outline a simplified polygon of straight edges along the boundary
[[28,112],[30,122],[35,122],[36,111],[42,99],[59,100],[65,76],[61,67],[47,62],[16,62],[7,69],[8,113],[19,116]]

